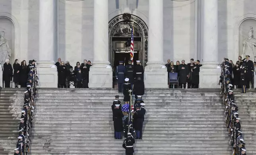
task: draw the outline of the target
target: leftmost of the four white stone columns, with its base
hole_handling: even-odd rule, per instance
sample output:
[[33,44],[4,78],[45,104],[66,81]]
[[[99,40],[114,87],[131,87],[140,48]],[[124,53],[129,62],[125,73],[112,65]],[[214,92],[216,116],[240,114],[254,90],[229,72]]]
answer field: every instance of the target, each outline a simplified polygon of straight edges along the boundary
[[58,87],[54,55],[57,52],[57,0],[39,0],[39,87]]

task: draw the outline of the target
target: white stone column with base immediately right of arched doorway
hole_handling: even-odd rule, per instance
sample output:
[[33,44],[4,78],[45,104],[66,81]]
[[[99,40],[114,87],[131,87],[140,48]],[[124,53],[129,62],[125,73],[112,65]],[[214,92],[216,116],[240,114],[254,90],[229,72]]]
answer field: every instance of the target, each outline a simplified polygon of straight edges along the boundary
[[163,0],[149,0],[148,62],[146,88],[167,88],[168,75],[163,62]]

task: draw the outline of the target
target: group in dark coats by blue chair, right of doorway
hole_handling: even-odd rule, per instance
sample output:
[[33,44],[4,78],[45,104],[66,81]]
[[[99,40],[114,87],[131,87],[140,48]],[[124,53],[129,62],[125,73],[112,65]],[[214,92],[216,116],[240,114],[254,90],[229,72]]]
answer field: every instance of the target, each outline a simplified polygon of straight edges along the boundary
[[[169,84],[169,88],[198,88],[199,86],[199,72],[200,60],[194,61],[194,59],[190,59],[190,63],[185,64],[185,60],[176,61],[176,65],[170,59],[167,60],[167,64],[165,64],[168,72],[168,79],[170,73],[178,73],[178,86]],[[169,80],[168,80],[169,82]]]

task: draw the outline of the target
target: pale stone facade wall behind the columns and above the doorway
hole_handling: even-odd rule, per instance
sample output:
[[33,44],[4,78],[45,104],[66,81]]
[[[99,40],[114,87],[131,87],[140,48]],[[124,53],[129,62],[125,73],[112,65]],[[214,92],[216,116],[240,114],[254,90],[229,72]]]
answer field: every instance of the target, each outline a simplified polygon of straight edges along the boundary
[[[6,32],[6,39],[11,45],[11,63],[14,59],[19,59],[21,62],[40,56],[39,1],[1,0],[0,2],[0,31]],[[194,58],[204,64],[202,36],[212,30],[202,30],[203,1],[163,0],[163,61],[184,59],[185,62],[189,62],[190,58]],[[242,53],[241,40],[247,36],[250,26],[256,29],[254,6],[256,6],[255,0],[217,0],[218,15],[214,24],[218,27],[217,55],[215,55],[218,62],[223,57],[236,61]],[[56,61],[61,57],[64,61],[69,60],[72,66],[83,59],[91,60],[93,63],[94,0],[80,2],[57,0],[56,9],[58,39],[52,55],[53,60]],[[149,26],[149,0],[108,0],[109,21],[122,13],[136,15]],[[157,21],[155,19],[155,22]]]

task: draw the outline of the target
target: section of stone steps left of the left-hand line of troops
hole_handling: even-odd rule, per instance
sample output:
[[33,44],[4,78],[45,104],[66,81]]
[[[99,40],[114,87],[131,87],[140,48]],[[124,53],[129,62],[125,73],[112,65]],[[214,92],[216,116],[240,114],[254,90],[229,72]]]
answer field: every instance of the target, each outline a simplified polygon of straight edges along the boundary
[[0,155],[13,155],[25,89],[0,90]]

